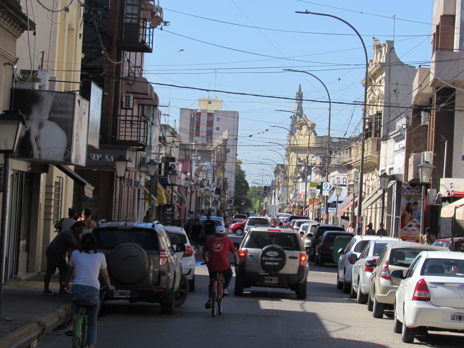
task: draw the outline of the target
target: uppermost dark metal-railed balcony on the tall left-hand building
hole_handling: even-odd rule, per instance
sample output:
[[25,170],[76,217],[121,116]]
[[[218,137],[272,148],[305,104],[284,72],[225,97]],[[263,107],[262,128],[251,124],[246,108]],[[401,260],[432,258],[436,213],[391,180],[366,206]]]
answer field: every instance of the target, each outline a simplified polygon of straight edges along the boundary
[[131,20],[124,23],[122,42],[118,47],[129,52],[153,52],[153,32],[155,27],[146,19]]

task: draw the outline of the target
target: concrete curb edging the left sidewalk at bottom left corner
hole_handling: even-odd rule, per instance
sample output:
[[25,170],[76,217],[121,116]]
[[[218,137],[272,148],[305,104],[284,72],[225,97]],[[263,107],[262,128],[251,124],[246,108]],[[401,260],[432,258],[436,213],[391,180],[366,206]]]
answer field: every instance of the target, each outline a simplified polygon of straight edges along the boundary
[[30,347],[39,337],[52,332],[58,325],[69,322],[71,319],[72,303],[69,301],[1,336],[0,347]]

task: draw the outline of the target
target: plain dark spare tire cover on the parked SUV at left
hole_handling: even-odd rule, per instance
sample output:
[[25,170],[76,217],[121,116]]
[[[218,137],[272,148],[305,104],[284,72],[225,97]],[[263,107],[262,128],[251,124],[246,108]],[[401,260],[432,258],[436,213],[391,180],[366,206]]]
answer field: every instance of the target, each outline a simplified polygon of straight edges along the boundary
[[108,257],[108,270],[121,284],[133,285],[142,281],[150,269],[150,258],[140,245],[124,243],[116,246]]

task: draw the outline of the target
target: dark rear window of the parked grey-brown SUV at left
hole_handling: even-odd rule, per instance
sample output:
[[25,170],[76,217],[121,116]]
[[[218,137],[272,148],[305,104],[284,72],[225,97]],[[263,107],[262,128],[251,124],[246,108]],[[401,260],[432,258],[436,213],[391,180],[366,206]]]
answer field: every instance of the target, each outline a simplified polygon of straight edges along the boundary
[[158,237],[155,231],[143,229],[98,229],[93,234],[98,249],[113,249],[124,243],[140,245],[145,250],[158,250]]

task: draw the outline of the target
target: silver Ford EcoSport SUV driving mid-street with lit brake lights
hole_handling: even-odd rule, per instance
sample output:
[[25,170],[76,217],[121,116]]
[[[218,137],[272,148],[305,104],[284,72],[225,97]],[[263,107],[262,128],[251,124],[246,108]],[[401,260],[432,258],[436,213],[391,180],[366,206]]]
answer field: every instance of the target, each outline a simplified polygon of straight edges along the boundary
[[244,288],[261,286],[290,289],[298,299],[306,299],[308,263],[295,230],[255,227],[245,236],[238,253],[236,296],[242,296]]

